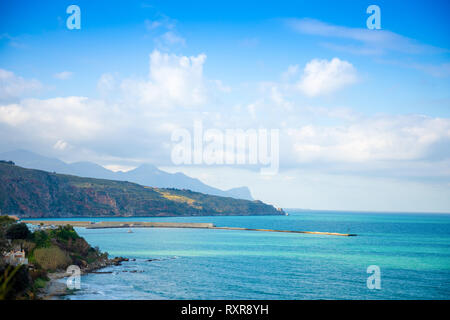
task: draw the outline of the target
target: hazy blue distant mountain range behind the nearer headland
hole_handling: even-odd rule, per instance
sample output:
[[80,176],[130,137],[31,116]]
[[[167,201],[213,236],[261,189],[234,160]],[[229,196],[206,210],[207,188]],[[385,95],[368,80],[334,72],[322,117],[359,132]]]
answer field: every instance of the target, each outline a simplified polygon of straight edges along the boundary
[[221,190],[208,186],[198,179],[181,172],[169,173],[152,164],[142,164],[130,171],[111,171],[93,162],[66,163],[56,158],[49,158],[27,150],[15,150],[0,153],[0,160],[14,161],[16,165],[49,172],[70,174],[86,178],[109,179],[134,182],[155,188],[188,189],[209,195],[253,200],[247,187]]

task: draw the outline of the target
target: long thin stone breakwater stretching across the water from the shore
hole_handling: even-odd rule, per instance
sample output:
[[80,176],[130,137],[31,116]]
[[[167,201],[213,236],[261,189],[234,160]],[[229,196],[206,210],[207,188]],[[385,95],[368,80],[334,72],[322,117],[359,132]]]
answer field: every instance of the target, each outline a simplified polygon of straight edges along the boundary
[[304,233],[329,236],[356,236],[352,233],[321,232],[321,231],[297,231],[297,230],[273,230],[273,229],[251,229],[238,227],[216,227],[212,223],[194,223],[194,222],[141,222],[141,221],[62,221],[62,220],[22,220],[24,223],[41,226],[61,226],[71,225],[74,227],[83,227],[87,229],[105,229],[105,228],[193,228],[193,229],[216,229],[216,230],[238,230],[238,231],[260,231],[260,232],[286,232],[286,233]]

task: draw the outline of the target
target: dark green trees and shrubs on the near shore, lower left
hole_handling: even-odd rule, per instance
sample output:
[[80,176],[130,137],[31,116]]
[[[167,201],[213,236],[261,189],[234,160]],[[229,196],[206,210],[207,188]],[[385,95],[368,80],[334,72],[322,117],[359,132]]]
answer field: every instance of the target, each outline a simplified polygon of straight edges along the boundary
[[[24,230],[26,228],[26,231]],[[108,258],[98,248],[92,248],[72,226],[37,230],[31,233],[26,224],[0,216],[0,241],[5,248],[25,250],[29,265],[11,266],[0,258],[0,300],[33,299],[46,286],[47,273],[64,271],[69,265],[85,269],[101,265]],[[7,250],[2,250],[3,253]]]

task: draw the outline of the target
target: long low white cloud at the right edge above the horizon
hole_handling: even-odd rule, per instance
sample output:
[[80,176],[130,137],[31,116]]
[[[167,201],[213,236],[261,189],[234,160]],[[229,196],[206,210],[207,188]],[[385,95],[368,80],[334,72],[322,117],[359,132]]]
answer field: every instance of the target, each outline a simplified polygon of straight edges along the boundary
[[450,143],[450,119],[384,116],[347,126],[305,125],[286,133],[300,163],[419,161],[430,159],[439,143]]

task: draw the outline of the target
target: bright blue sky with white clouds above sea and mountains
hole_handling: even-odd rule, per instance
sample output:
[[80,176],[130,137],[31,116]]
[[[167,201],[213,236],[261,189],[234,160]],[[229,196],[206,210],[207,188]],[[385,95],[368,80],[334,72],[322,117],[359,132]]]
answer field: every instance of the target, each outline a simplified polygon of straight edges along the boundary
[[[367,27],[370,5],[381,29]],[[152,163],[284,208],[450,212],[449,7],[2,1],[0,152]],[[278,170],[262,174],[261,155],[174,161],[174,135],[195,140],[196,123],[213,139],[275,130]]]

